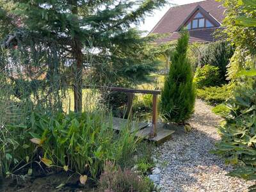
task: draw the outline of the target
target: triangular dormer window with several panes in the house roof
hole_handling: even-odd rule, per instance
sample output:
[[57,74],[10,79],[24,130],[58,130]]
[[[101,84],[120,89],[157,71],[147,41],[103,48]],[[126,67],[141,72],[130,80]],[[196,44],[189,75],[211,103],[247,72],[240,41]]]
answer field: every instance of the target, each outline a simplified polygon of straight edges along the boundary
[[200,12],[197,12],[194,17],[189,19],[185,29],[212,28],[214,25],[204,17]]

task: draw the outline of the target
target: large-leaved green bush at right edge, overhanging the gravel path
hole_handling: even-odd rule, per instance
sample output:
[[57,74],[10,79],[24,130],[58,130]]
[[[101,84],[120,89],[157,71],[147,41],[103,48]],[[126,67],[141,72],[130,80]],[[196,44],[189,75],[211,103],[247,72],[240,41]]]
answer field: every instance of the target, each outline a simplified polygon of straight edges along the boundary
[[256,89],[246,88],[231,99],[225,115],[226,124],[219,127],[221,141],[216,154],[224,156],[228,163],[236,164],[232,176],[254,180],[256,178]]

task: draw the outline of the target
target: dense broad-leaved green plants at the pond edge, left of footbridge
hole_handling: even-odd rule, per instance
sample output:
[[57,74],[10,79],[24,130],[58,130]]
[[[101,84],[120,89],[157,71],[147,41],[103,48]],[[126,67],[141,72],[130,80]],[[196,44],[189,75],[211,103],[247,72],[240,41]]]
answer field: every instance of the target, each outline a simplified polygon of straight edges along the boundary
[[[20,166],[40,161],[58,167],[99,176],[106,159],[122,163],[136,150],[138,139],[124,125],[116,135],[104,113],[32,113],[25,125],[8,125],[0,131],[1,171],[12,174]],[[30,140],[30,141],[29,141]],[[127,153],[127,154],[125,154]],[[6,166],[8,164],[9,166]]]

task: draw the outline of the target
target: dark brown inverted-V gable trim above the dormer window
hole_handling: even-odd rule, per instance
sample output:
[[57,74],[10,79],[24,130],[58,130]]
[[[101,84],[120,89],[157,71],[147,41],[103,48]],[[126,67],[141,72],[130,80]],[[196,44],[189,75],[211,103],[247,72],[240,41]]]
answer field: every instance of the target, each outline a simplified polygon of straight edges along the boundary
[[182,29],[184,26],[186,26],[186,24],[188,24],[189,20],[194,19],[198,13],[202,14],[202,16],[205,17],[205,19],[209,20],[213,26],[220,27],[220,22],[218,22],[218,20],[216,20],[209,12],[206,12],[204,10],[204,8],[202,8],[202,6],[200,6],[198,4],[198,6],[196,6],[196,8],[193,10],[193,12],[191,12],[188,15],[188,17],[184,20],[184,22],[182,22],[182,24],[179,26],[179,28],[177,28],[175,31],[180,31],[180,29]]

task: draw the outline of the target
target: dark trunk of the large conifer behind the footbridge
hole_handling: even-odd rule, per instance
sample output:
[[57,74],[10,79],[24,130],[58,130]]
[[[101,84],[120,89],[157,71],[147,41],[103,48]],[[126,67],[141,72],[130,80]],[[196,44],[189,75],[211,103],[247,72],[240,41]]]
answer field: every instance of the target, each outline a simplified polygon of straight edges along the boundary
[[[77,15],[77,1],[71,0],[72,4],[72,14]],[[79,26],[76,26],[77,31],[79,31]],[[76,29],[74,30],[76,31]],[[72,55],[75,60],[74,63],[74,110],[76,112],[82,111],[82,100],[83,100],[83,52],[82,44],[79,35],[74,35],[72,39]]]

